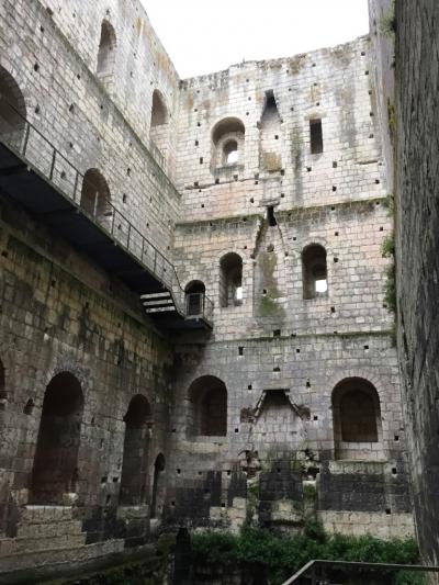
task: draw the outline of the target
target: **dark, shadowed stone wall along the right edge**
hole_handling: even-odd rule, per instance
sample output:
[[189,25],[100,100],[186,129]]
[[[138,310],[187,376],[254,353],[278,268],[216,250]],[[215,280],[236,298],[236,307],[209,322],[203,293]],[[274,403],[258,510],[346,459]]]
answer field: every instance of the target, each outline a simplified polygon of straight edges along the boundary
[[[381,115],[394,166],[397,346],[409,446],[417,535],[425,560],[438,564],[437,461],[437,78],[438,5],[371,1]],[[394,57],[393,57],[394,54]],[[391,177],[393,179],[393,177]]]

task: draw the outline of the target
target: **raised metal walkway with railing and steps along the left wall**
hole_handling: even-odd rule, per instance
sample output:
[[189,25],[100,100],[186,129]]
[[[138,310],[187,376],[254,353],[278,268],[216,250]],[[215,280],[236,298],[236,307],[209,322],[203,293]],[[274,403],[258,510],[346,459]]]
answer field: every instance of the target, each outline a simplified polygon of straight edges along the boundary
[[85,176],[1,94],[0,101],[2,194],[122,280],[159,328],[211,329],[212,301],[203,294],[199,314],[188,312],[172,263],[110,200],[99,194],[99,204],[98,199],[85,201]]

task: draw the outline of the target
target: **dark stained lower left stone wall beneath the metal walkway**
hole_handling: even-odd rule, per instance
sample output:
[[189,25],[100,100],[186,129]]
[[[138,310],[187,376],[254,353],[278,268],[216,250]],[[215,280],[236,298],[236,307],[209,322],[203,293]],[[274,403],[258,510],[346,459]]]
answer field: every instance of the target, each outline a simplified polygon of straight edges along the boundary
[[[124,417],[132,397],[143,394],[151,408],[150,499],[154,461],[166,452],[169,346],[121,284],[4,200],[0,246],[2,571],[47,559],[59,562],[56,551],[61,549],[75,549],[78,560],[123,549],[124,538],[142,540],[149,532],[148,506],[117,510]],[[69,502],[66,494],[66,507],[44,508],[29,505],[32,469],[46,386],[59,372],[74,374],[85,397],[76,485],[66,486],[76,495]],[[137,521],[130,522],[130,517]],[[121,540],[102,544],[102,550],[83,549],[86,542],[115,538]]]

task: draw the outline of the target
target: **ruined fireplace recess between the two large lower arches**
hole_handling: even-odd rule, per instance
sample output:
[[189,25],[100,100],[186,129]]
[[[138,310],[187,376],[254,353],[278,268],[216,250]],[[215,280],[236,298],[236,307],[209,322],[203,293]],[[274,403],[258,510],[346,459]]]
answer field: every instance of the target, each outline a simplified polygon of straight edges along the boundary
[[300,449],[304,440],[304,425],[297,406],[291,401],[288,390],[266,390],[255,410],[252,427],[255,446],[259,451],[279,449]]

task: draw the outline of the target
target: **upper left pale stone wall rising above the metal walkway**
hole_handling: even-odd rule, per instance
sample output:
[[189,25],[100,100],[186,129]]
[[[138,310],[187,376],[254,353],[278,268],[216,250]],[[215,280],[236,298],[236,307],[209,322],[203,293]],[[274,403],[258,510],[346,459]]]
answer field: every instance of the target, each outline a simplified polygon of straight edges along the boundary
[[[134,81],[131,87],[127,85],[126,77],[131,79],[130,64],[123,60],[117,63],[113,76],[117,87],[127,91],[125,98],[116,93],[116,89],[114,94],[113,90],[109,93],[110,90],[95,77],[94,63],[106,3],[88,2],[86,12],[83,3],[79,3],[80,9],[75,12],[71,2],[68,8],[61,2],[60,10],[54,8],[54,18],[50,18],[37,1],[2,2],[0,65],[12,75],[23,92],[27,116],[35,127],[82,175],[90,168],[98,169],[106,179],[114,206],[167,256],[172,245],[172,225],[177,218],[180,198],[149,155],[147,146],[150,94],[155,88],[165,95],[170,93],[171,80],[165,74],[158,74],[162,69],[162,66],[159,67],[161,61],[156,67],[156,75],[148,77],[147,83],[146,77],[143,81],[137,79],[137,82],[147,85],[148,90],[148,99],[145,98],[142,106],[142,119],[139,102],[137,110],[130,110],[136,104],[133,95],[139,100],[142,95],[142,92],[134,92]],[[112,8],[121,27],[119,43],[122,50],[117,59],[127,58],[126,54],[134,50],[133,40],[127,37],[126,30],[131,30],[135,19],[142,16],[144,26],[147,26],[146,16],[140,13],[140,9],[137,13],[135,5],[126,3],[121,13],[119,2],[114,2]],[[72,13],[76,14],[75,18]],[[83,22],[82,25],[78,23],[75,26],[81,26],[81,34],[87,32],[87,50],[92,53],[93,48],[94,57],[82,60],[81,57],[86,58],[86,55],[76,52],[77,31],[70,21],[77,23],[78,19],[86,15],[89,19],[87,26]],[[136,70],[144,68],[143,75],[146,76],[148,68],[153,68],[153,54],[145,46],[145,31],[140,36],[140,46],[144,48],[135,61]],[[68,33],[68,37],[64,33]],[[153,44],[154,38],[149,42]],[[137,38],[136,43],[139,44],[140,41]],[[117,48],[115,52],[120,54]],[[173,91],[177,91],[177,79],[173,78],[172,82]],[[169,110],[172,113],[170,105]],[[145,124],[139,123],[140,120],[145,120]],[[30,151],[33,148],[38,154],[40,144],[33,145],[31,142]],[[44,155],[44,151],[41,153],[41,156]],[[50,160],[47,160],[48,168],[49,165]],[[67,185],[74,177],[67,165],[63,170],[66,172],[64,184]]]

